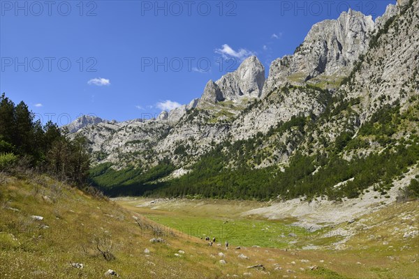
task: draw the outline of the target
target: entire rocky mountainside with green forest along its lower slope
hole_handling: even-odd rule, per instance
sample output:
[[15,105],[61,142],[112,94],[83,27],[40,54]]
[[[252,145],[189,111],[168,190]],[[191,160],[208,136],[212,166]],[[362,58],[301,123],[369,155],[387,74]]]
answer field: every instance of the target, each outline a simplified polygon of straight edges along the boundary
[[418,161],[417,30],[418,1],[389,6],[376,22],[350,10],[272,62],[263,89],[264,69],[251,56],[175,112],[82,128],[98,163],[109,164],[92,181],[125,178],[107,184],[112,195],[128,187],[260,199],[388,188]]

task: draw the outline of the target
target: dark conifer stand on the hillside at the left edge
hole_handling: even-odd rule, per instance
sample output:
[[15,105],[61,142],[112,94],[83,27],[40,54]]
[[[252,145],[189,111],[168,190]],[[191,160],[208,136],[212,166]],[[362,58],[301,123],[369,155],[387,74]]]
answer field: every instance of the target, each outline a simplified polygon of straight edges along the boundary
[[84,137],[70,140],[57,124],[36,121],[23,101],[0,96],[0,172],[31,169],[81,186],[90,167],[86,146]]

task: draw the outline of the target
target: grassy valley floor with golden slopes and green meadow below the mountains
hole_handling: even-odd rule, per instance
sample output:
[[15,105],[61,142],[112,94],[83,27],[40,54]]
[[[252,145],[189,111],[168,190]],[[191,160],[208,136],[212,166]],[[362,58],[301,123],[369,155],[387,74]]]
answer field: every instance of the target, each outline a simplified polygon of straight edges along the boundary
[[[307,230],[297,218],[249,213],[272,206],[264,202],[108,201],[47,176],[1,181],[2,278],[103,278],[108,269],[121,278],[419,276],[418,201]],[[216,243],[208,246],[205,235]]]

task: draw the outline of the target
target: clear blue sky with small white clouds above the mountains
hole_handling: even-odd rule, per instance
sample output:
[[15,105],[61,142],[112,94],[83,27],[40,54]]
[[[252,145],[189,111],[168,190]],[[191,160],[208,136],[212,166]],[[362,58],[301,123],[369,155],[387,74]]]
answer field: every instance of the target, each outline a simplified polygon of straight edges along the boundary
[[0,91],[61,125],[149,118],[255,54],[292,54],[316,22],[381,1],[0,1]]

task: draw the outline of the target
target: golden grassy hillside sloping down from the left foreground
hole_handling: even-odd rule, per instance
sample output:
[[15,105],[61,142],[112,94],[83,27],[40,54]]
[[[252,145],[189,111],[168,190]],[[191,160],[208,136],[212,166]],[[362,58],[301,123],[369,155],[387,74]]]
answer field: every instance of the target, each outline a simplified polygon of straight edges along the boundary
[[[47,176],[2,176],[0,187],[1,278],[103,278],[108,269],[122,278],[216,278],[222,273],[216,265],[215,271],[205,266],[203,256],[174,255],[186,247],[196,249],[196,241],[166,235],[138,215],[137,223],[133,213],[107,199]],[[166,243],[149,242],[159,236]],[[115,259],[106,260],[98,246]],[[70,265],[76,262],[84,268]]]

